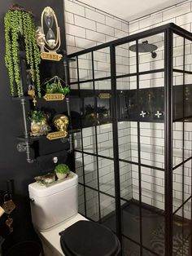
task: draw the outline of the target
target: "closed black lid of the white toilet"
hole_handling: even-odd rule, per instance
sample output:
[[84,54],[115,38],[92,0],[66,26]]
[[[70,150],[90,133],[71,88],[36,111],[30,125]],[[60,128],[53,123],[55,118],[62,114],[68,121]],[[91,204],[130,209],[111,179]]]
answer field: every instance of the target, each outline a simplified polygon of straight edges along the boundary
[[113,256],[120,242],[107,227],[81,220],[61,232],[63,253],[67,256]]

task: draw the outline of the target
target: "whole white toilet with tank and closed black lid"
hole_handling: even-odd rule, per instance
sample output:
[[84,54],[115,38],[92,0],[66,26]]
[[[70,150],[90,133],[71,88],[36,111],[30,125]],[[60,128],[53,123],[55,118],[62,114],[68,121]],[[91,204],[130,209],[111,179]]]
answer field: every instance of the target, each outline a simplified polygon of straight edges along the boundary
[[[81,214],[78,214],[78,176],[76,174],[71,172],[68,179],[57,181],[47,187],[37,182],[31,183],[28,185],[28,192],[33,227],[41,239],[45,256],[85,256],[90,248],[95,251],[94,247],[98,247],[97,239],[95,241],[90,240],[89,248],[86,249],[86,241],[89,240],[87,234],[89,232],[91,234],[93,232],[96,238],[97,236],[102,236],[103,233],[106,234],[104,238],[108,241],[109,249],[105,253],[102,253],[101,249],[99,256],[115,256],[119,254],[120,243],[116,235],[109,230],[106,232],[106,227],[98,226],[98,223],[91,223]],[[89,227],[86,227],[86,223],[90,223]],[[84,230],[88,232],[83,232]],[[78,241],[76,234],[82,238],[82,244],[84,244],[83,251],[80,252],[78,251],[78,246],[76,251],[76,244],[71,242],[73,238],[74,241],[75,239]],[[115,245],[114,239],[116,241]],[[103,244],[103,252],[106,250],[106,245]],[[115,252],[114,254],[109,254],[111,248]],[[76,253],[74,253],[74,249]],[[90,254],[88,255],[91,256]]]

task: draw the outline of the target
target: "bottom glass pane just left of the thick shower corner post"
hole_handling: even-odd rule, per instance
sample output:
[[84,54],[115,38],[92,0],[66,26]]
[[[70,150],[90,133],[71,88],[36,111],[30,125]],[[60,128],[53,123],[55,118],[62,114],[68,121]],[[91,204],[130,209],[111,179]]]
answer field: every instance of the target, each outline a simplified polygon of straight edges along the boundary
[[142,245],[164,256],[164,171],[141,166]]

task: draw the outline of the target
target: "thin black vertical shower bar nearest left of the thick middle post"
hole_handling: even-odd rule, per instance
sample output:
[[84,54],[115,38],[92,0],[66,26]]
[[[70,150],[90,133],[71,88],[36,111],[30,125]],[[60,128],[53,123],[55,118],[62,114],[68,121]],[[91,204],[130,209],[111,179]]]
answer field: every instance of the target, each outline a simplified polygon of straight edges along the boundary
[[[94,86],[94,112],[97,116],[97,97],[95,92],[95,80],[94,80],[94,51],[91,51],[91,64],[92,64],[92,76],[93,76],[93,86]],[[95,150],[96,150],[96,166],[97,166],[97,176],[98,176],[98,218],[99,223],[101,222],[101,200],[100,200],[100,187],[99,187],[99,171],[98,171],[98,131],[97,126],[94,126],[95,133]]]

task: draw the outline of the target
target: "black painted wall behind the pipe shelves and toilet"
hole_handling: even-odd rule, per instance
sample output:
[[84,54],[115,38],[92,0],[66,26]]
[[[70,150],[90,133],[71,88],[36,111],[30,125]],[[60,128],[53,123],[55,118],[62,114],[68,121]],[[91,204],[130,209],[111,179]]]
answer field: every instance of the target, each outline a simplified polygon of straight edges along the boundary
[[[17,0],[13,2],[11,0],[1,0],[0,8],[0,31],[1,31],[1,46],[0,46],[0,205],[2,205],[2,192],[7,189],[7,180],[14,180],[15,196],[14,200],[17,205],[12,217],[14,217],[14,233],[15,236],[20,234],[20,238],[27,237],[26,233],[28,222],[30,222],[30,211],[28,204],[28,183],[34,181],[33,177],[41,174],[41,167],[34,164],[28,164],[26,161],[25,152],[17,152],[16,145],[18,143],[16,137],[23,135],[24,124],[21,112],[21,104],[19,100],[11,99],[9,78],[7,74],[7,68],[4,64],[5,56],[5,38],[4,38],[4,15],[8,8],[13,3],[20,4],[28,11],[33,11],[35,15],[36,24],[40,25],[39,17],[44,7],[50,6],[54,9],[57,15],[59,26],[61,30],[62,48],[65,47],[64,40],[64,28],[63,28],[63,0]],[[48,64],[51,69],[51,64]],[[54,68],[55,70],[55,68]],[[51,71],[51,70],[50,70]],[[28,104],[29,106],[29,104]],[[61,108],[61,107],[59,107]],[[48,143],[41,148],[46,148],[46,153],[58,150],[62,150],[62,143]],[[42,150],[43,152],[43,150]],[[0,235],[7,237],[9,244],[13,244],[15,236],[7,236],[7,230],[4,225],[4,221],[7,218],[6,214],[0,218]],[[2,231],[5,231],[4,233]],[[22,239],[22,238],[21,238]],[[10,247],[10,245],[9,245]]]

